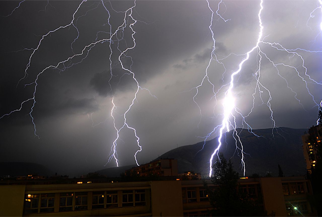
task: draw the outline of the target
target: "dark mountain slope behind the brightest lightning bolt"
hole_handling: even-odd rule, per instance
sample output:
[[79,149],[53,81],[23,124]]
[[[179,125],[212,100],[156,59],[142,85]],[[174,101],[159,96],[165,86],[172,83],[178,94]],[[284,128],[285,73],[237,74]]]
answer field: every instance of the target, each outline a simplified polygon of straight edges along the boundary
[[[238,129],[240,132],[241,129]],[[278,174],[280,164],[285,176],[305,175],[306,165],[302,152],[302,140],[305,129],[292,129],[281,127],[277,131],[272,129],[258,129],[253,132],[262,137],[257,137],[247,130],[239,134],[245,154],[246,175],[259,173],[265,175],[269,171],[273,176]],[[236,135],[235,135],[236,137]],[[235,152],[236,145],[232,131],[223,136],[221,152],[226,159],[231,158],[237,171],[242,174],[240,167],[241,158]],[[209,159],[218,145],[217,138],[193,145],[181,146],[164,153],[159,158],[175,158],[178,160],[179,172],[193,170],[204,175],[209,173]],[[240,144],[238,143],[240,147]],[[241,152],[239,152],[239,155]]]

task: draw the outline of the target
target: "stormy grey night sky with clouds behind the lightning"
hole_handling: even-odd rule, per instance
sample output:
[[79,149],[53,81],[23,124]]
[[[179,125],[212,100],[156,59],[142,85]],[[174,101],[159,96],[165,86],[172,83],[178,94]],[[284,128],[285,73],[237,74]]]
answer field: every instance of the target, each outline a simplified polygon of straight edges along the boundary
[[[219,59],[213,59],[208,68],[213,86],[204,80],[195,96],[213,46],[209,29],[212,12],[207,1],[136,1],[135,7],[133,1],[24,1],[19,7],[19,1],[0,1],[0,117],[33,98],[39,74],[32,112],[39,138],[34,135],[29,115],[33,100],[29,100],[20,111],[0,119],[1,161],[40,163],[69,175],[104,169],[117,136],[111,117],[112,98],[119,129],[137,91],[133,74],[123,70],[118,61],[121,52],[134,46],[132,36],[135,47],[124,53],[121,61],[142,88],[126,115],[128,125],[140,138],[138,162],[203,141],[202,137],[221,124],[226,84],[246,57],[242,54],[256,45],[260,30],[260,1],[224,1],[218,10],[222,17],[216,14],[218,3],[210,1],[216,40],[213,57]],[[264,0],[262,40],[287,49],[322,50],[318,6],[318,1]],[[129,11],[124,13],[131,7],[133,19]],[[114,33],[124,18],[124,30],[108,40],[110,26]],[[60,26],[66,27],[53,31]],[[303,50],[295,54],[263,42],[259,48],[235,77],[237,111],[247,116],[245,120],[253,129],[273,127],[267,102],[277,127],[314,125],[322,98],[322,54]],[[58,64],[62,61],[64,64]],[[247,127],[239,114],[233,114],[237,127]],[[119,136],[119,165],[135,164],[138,146],[133,130],[124,128]],[[215,136],[218,133],[209,139]],[[247,152],[247,144],[244,149]],[[114,166],[115,161],[106,165]]]

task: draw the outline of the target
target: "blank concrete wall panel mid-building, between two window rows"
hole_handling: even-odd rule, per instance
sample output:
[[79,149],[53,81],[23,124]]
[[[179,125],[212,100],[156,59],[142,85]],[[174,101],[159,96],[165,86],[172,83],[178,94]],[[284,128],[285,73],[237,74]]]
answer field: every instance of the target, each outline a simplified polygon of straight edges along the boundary
[[183,216],[181,181],[151,182],[152,216]]

